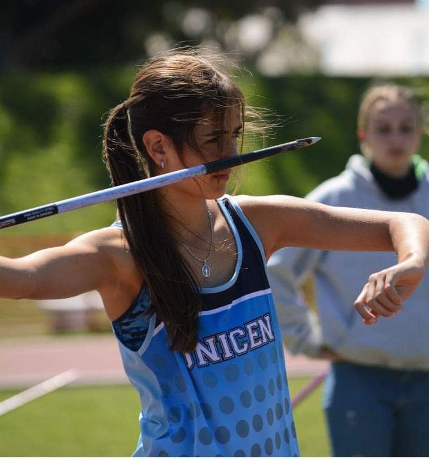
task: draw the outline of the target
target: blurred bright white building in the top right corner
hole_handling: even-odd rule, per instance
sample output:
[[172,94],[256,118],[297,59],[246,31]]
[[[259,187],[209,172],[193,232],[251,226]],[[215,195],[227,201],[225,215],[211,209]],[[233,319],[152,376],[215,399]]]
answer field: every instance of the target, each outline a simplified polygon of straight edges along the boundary
[[428,75],[429,2],[330,0],[298,28],[329,75]]

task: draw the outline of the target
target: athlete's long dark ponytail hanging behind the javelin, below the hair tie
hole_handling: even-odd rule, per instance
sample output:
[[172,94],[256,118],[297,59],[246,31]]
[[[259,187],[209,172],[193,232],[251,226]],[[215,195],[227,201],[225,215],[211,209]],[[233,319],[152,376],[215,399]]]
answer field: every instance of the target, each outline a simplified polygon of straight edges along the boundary
[[[127,104],[111,110],[105,124],[103,157],[113,186],[150,176],[153,164],[135,147]],[[150,159],[148,161],[151,161]],[[192,352],[198,334],[201,298],[195,276],[178,252],[155,190],[117,200],[129,250],[150,292],[148,314],[164,322],[170,349]]]

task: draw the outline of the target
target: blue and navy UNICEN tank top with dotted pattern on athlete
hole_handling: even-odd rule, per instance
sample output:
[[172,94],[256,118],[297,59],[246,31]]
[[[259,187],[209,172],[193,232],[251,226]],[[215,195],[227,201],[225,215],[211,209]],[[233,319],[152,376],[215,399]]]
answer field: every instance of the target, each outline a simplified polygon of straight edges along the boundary
[[135,456],[299,455],[262,243],[232,198],[217,203],[237,264],[228,282],[201,288],[195,351],[168,350],[164,324],[142,315],[145,285],[112,323],[141,401]]

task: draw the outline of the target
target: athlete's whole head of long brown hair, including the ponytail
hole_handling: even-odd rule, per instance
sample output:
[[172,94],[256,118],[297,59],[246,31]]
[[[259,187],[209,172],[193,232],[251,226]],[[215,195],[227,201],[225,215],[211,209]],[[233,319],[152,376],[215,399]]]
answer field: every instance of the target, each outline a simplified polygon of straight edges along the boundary
[[[232,107],[239,107],[244,118],[240,89],[201,56],[201,50],[150,59],[137,73],[128,100],[113,108],[105,123],[103,158],[112,185],[155,174],[156,164],[143,143],[147,130],[168,135],[183,162],[185,145],[198,152],[197,123],[210,113],[223,126]],[[164,322],[172,350],[191,352],[197,342],[201,295],[192,270],[178,251],[161,199],[156,190],[119,199],[118,214],[150,292],[148,313],[156,313]]]

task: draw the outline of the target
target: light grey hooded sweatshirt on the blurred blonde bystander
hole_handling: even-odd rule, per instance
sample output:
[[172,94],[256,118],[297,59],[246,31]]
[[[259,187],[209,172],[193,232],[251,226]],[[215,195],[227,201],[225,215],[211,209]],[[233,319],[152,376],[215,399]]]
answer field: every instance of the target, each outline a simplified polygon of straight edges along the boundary
[[[306,198],[332,206],[413,212],[429,218],[429,165],[419,157],[414,159],[418,188],[403,199],[383,194],[361,155],[351,156],[340,175],[323,182]],[[289,350],[314,357],[324,344],[357,364],[429,370],[428,274],[396,317],[380,318],[368,326],[353,307],[368,276],[396,262],[393,252],[286,247],[274,253],[268,263],[269,279]],[[318,317],[299,294],[299,285],[310,275]]]

